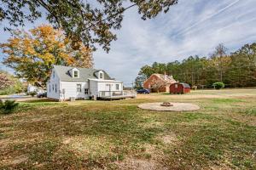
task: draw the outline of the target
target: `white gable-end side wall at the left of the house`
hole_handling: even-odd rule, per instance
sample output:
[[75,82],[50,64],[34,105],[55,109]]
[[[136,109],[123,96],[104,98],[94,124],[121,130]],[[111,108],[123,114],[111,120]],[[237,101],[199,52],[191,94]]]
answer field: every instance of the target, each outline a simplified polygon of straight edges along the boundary
[[60,99],[60,79],[55,73],[55,69],[52,70],[49,82],[47,82],[47,97],[51,99]]

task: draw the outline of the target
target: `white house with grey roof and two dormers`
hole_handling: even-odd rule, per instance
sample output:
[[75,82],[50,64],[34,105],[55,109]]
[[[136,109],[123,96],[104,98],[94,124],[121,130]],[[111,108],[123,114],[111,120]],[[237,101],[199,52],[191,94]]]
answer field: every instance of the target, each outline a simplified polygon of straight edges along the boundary
[[49,99],[90,99],[124,95],[123,82],[113,80],[105,71],[54,65],[49,82]]

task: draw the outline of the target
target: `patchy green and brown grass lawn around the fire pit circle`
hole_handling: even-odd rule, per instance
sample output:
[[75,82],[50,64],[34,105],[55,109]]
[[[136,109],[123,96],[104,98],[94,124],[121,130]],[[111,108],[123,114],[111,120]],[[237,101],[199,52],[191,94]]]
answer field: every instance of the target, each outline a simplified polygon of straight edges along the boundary
[[[199,111],[144,111],[189,102]],[[0,115],[0,169],[256,169],[256,89],[20,102]]]

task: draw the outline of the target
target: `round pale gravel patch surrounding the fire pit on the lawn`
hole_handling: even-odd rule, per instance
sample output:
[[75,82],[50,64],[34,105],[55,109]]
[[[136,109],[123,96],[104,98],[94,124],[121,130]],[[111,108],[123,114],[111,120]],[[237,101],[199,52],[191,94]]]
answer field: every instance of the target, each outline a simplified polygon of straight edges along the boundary
[[200,107],[189,103],[171,103],[172,106],[161,106],[162,103],[146,103],[138,105],[139,108],[150,111],[196,111]]

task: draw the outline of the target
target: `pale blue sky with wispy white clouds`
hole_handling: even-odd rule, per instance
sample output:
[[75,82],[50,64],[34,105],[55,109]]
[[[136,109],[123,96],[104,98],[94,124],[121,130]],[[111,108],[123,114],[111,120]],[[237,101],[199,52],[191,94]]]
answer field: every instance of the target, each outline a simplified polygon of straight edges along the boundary
[[[231,51],[256,42],[256,0],[179,0],[167,14],[142,20],[137,8],[125,11],[118,40],[107,54],[99,48],[96,69],[131,86],[143,65],[181,61],[190,55],[208,56],[218,43]],[[46,23],[37,20],[25,30]],[[0,25],[0,42],[9,38]],[[3,54],[0,51],[0,60]],[[11,71],[4,67],[7,71]]]

